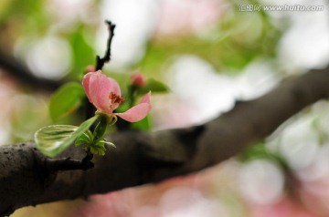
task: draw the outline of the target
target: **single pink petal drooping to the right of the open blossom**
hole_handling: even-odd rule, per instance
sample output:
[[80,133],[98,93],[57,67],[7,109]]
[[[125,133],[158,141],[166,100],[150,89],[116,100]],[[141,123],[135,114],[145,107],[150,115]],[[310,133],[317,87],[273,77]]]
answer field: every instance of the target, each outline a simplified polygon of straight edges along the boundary
[[140,104],[134,106],[131,109],[128,109],[123,113],[115,113],[115,115],[129,122],[137,122],[140,121],[141,119],[144,119],[152,109],[152,106],[150,104],[150,97],[151,97],[151,92],[147,93],[142,98]]

